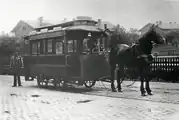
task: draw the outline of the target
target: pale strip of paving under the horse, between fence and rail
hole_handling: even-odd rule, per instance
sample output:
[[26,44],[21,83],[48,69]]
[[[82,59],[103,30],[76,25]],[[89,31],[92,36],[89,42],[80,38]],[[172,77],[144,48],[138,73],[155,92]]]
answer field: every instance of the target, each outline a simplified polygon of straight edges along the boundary
[[[125,81],[126,85],[129,85],[130,83],[131,82]],[[151,82],[150,83],[151,89],[155,95],[147,96],[147,97],[142,97],[140,95],[140,82],[136,82],[131,87],[126,87],[125,85],[122,85],[123,93],[113,93],[111,92],[109,83],[103,83],[103,84],[104,85],[98,82],[95,85],[94,90],[90,92],[86,92],[86,94],[179,104],[179,84],[178,83]]]

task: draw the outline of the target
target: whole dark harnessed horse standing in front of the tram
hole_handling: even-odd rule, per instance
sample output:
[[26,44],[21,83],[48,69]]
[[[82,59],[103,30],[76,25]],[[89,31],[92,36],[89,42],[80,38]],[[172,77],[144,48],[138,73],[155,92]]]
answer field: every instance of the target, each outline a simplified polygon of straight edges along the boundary
[[[163,44],[165,39],[156,31],[156,25],[152,25],[148,32],[138,39],[138,43],[129,46],[127,44],[111,45],[109,52],[109,64],[111,67],[111,89],[112,92],[122,92],[120,79],[124,77],[124,68],[137,69],[137,76],[140,78],[140,91],[142,96],[153,95],[149,81],[151,80],[150,63],[153,60],[151,54],[154,43]],[[117,70],[117,90],[114,86],[115,70]],[[146,82],[144,88],[144,81]],[[146,91],[145,91],[146,90]]]

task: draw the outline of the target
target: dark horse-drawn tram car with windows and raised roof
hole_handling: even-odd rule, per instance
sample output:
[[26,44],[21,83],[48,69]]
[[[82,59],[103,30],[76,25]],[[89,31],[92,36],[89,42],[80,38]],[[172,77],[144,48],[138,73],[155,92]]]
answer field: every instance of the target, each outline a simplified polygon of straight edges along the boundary
[[24,72],[26,79],[37,77],[39,87],[52,83],[91,88],[98,78],[109,76],[103,48],[106,32],[94,20],[75,20],[36,28],[24,37]]

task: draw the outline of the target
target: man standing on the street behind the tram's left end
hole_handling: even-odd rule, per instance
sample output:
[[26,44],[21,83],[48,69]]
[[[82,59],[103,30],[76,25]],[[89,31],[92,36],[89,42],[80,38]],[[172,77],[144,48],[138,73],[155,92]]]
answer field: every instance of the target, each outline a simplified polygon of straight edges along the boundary
[[16,51],[10,60],[10,68],[11,68],[13,76],[14,76],[14,84],[12,87],[17,86],[17,79],[18,79],[18,86],[22,86],[21,80],[20,80],[20,72],[21,72],[21,68],[23,68],[23,66],[24,66],[24,64],[23,64],[22,57]]

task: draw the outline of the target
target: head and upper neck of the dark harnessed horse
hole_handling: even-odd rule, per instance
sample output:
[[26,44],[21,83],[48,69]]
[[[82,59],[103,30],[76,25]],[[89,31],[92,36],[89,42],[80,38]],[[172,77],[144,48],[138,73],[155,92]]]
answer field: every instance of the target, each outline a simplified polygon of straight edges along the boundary
[[148,32],[146,32],[140,39],[139,44],[142,48],[142,52],[145,54],[151,54],[154,44],[163,44],[165,42],[164,37],[157,31],[157,26],[152,25]]

